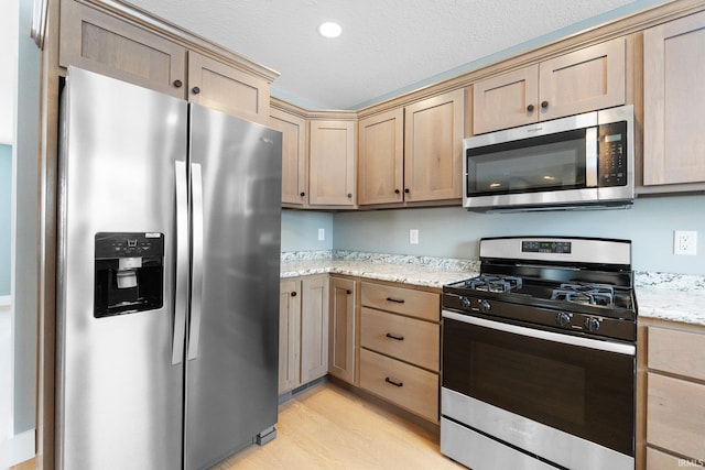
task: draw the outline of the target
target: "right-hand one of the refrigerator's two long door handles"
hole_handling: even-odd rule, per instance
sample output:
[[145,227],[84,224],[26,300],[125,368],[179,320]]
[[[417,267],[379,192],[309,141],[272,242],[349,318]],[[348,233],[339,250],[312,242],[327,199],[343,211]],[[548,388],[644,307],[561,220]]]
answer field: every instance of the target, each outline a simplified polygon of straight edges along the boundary
[[200,336],[200,315],[203,304],[203,178],[200,164],[191,164],[192,190],[192,284],[191,284],[191,320],[188,326],[188,360],[198,356],[198,338]]

